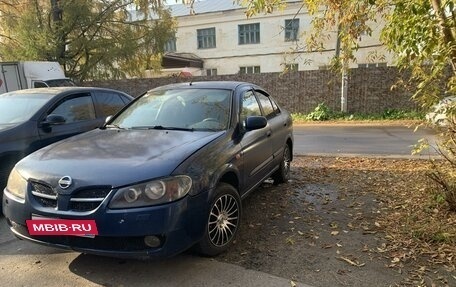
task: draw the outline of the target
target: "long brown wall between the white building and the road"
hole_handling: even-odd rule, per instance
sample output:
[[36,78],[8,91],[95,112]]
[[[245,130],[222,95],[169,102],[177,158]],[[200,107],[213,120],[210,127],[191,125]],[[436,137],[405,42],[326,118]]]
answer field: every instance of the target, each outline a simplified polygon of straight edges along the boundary
[[[351,69],[348,81],[348,111],[350,113],[381,113],[386,109],[417,109],[410,92],[391,89],[401,74],[395,67]],[[340,76],[329,70],[313,70],[254,75],[219,75],[193,77],[194,82],[234,80],[255,83],[265,88],[291,112],[309,113],[319,103],[340,110]],[[139,96],[152,88],[188,79],[167,77],[86,82],[86,86],[108,87]]]

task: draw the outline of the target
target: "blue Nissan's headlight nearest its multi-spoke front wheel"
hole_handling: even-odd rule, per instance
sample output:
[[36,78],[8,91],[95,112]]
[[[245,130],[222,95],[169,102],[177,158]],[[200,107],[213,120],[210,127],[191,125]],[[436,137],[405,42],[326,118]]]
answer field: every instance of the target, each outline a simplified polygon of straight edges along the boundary
[[192,187],[192,179],[179,175],[149,181],[119,189],[109,203],[109,208],[151,206],[178,200]]

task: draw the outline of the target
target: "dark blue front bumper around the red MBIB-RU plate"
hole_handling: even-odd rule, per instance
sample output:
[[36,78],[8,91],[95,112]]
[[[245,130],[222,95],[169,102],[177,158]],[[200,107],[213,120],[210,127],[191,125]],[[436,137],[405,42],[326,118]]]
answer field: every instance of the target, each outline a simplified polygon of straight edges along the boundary
[[[163,258],[176,255],[198,242],[205,230],[208,194],[203,192],[153,207],[110,210],[100,206],[90,214],[36,210],[18,202],[5,192],[3,210],[11,231],[19,238],[35,243],[96,255],[122,258]],[[98,236],[32,236],[26,220],[32,215],[59,219],[94,219]],[[158,247],[148,246],[146,236],[160,240]]]

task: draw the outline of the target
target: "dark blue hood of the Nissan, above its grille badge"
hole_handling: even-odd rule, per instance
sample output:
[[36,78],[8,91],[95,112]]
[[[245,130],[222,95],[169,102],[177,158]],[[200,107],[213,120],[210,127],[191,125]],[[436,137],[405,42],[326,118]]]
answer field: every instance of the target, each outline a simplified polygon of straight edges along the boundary
[[224,132],[94,130],[32,153],[17,164],[26,178],[53,186],[70,176],[74,188],[128,185],[170,175]]

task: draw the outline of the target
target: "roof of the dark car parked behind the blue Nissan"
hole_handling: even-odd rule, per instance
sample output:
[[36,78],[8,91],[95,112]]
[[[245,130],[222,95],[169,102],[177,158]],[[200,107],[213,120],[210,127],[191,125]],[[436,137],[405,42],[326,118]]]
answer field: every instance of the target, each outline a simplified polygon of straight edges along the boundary
[[124,94],[131,99],[133,99],[132,96],[122,92],[122,91],[117,91],[113,89],[107,89],[107,88],[98,88],[98,87],[50,87],[50,88],[35,88],[35,89],[24,89],[24,90],[16,90],[12,92],[8,92],[5,94],[1,94],[1,96],[30,96],[30,95],[39,95],[41,97],[46,97],[46,98],[53,98],[56,96],[59,96],[61,94],[67,94],[67,93],[84,93],[84,92],[92,92],[92,91],[113,91],[117,93]]

